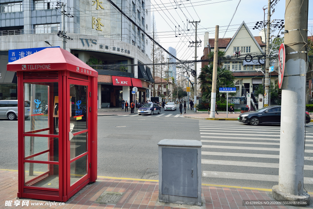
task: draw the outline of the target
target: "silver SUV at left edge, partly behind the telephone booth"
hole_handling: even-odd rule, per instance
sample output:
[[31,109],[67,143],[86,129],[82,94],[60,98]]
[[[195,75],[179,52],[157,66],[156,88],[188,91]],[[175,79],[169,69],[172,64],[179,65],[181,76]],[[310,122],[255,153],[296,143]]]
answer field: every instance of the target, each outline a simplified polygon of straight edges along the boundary
[[[25,119],[29,117],[30,102],[24,102]],[[18,101],[17,100],[0,100],[0,117],[6,117],[9,120],[15,120],[18,116]]]

